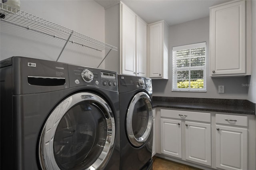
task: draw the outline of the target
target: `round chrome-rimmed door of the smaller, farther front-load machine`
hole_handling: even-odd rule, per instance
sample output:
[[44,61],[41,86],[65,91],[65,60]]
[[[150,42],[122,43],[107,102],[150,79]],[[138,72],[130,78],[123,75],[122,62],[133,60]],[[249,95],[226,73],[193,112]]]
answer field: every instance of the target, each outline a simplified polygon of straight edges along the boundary
[[149,95],[145,92],[137,93],[127,111],[126,130],[128,139],[136,146],[142,146],[152,128],[152,105]]

